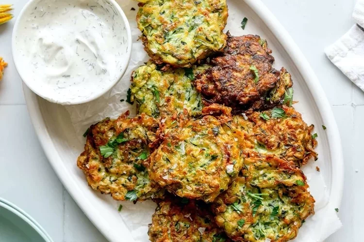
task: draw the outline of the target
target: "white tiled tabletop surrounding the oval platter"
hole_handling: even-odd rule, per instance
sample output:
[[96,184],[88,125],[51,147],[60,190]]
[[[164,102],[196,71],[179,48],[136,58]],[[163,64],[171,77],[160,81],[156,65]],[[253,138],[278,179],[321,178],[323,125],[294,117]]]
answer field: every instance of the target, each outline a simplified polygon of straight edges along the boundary
[[[27,0],[8,0],[15,16]],[[6,1],[5,1],[6,2]],[[355,0],[263,0],[312,64],[329,98],[342,137],[345,187],[339,216],[344,227],[328,242],[361,242],[364,211],[364,92],[325,57],[323,49],[353,25]],[[3,3],[3,2],[2,2]],[[33,216],[55,242],[104,242],[64,190],[48,164],[30,123],[21,81],[11,56],[14,20],[0,25],[0,56],[9,62],[0,83],[0,197]],[[239,24],[239,23],[237,23]],[[355,172],[358,169],[359,172]],[[5,185],[4,185],[5,184]],[[122,236],[122,235],[120,235]]]

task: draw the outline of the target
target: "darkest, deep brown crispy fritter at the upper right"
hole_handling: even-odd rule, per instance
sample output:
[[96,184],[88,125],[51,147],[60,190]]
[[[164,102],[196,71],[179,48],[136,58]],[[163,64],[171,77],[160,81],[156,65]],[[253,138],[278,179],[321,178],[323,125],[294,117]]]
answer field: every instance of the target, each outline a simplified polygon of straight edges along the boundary
[[212,58],[213,66],[197,76],[195,85],[206,104],[219,103],[235,109],[259,109],[280,103],[292,86],[291,75],[272,68],[271,50],[257,35],[234,37]]

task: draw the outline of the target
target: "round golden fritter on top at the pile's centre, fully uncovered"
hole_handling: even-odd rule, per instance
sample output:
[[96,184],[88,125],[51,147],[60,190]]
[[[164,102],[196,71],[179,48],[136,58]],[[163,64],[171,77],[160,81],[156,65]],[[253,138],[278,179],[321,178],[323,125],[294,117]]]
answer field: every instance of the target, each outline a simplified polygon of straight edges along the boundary
[[243,165],[238,144],[213,116],[174,125],[150,156],[150,179],[177,196],[214,201]]

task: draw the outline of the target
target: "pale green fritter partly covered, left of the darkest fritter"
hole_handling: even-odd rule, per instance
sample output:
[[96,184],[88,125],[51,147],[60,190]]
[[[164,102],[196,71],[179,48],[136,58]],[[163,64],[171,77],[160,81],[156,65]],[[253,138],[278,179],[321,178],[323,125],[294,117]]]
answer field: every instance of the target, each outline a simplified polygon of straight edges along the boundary
[[[186,113],[188,116],[201,114],[201,95],[192,85],[194,75],[207,65],[193,68],[159,69],[149,61],[132,73],[131,101],[136,101],[138,113],[154,118]],[[162,68],[163,69],[163,68]]]

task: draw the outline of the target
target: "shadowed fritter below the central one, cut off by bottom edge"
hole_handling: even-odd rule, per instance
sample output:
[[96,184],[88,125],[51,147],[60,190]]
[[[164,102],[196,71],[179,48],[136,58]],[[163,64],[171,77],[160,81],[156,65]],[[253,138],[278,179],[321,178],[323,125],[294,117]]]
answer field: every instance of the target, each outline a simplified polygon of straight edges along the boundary
[[151,242],[230,242],[203,202],[172,196],[156,202],[148,230]]

